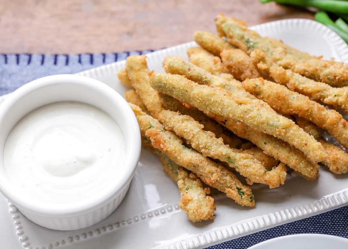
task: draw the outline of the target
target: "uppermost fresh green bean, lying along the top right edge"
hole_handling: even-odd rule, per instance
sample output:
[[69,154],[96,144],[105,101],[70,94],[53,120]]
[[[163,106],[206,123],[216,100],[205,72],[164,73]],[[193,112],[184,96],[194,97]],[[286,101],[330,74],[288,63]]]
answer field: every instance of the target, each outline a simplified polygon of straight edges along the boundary
[[348,2],[339,0],[260,0],[261,3],[276,2],[299,7],[314,7],[332,13],[348,14]]

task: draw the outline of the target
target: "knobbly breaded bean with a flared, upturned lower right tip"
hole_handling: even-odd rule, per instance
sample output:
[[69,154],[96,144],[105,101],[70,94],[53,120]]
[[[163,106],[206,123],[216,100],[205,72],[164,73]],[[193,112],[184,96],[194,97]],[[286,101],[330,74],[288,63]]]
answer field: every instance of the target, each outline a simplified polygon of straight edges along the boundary
[[246,177],[248,182],[267,184],[270,188],[284,184],[285,166],[278,166],[267,171],[261,162],[250,154],[240,153],[237,149],[229,148],[221,139],[216,138],[214,133],[204,131],[203,125],[190,116],[165,110],[159,113],[158,119],[166,126],[166,129],[174,131],[191,144],[193,149],[201,152],[205,157],[228,163],[231,168],[235,168],[237,172]]

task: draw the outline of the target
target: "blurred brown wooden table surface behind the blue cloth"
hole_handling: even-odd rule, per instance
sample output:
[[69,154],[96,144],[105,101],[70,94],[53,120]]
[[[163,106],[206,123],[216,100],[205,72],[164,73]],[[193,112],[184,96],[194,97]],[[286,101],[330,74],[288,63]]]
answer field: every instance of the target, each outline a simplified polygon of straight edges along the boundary
[[258,0],[0,0],[0,53],[109,53],[189,42],[223,13],[255,25],[313,13]]

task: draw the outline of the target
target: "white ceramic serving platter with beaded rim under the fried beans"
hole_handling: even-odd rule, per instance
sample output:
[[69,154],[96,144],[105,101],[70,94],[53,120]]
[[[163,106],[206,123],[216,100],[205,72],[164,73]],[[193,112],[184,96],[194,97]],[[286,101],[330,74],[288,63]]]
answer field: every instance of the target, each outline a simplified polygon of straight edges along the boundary
[[[288,19],[252,27],[262,36],[285,43],[324,59],[348,62],[348,46],[330,29],[305,19]],[[194,42],[147,55],[150,70],[162,71],[167,55],[187,58]],[[117,79],[124,61],[79,73],[110,85],[122,95],[127,90]],[[0,97],[0,103],[6,96]],[[256,205],[241,207],[223,194],[215,194],[216,217],[190,222],[177,203],[175,182],[162,172],[155,155],[142,150],[139,167],[128,194],[118,209],[100,223],[77,231],[54,231],[26,219],[0,194],[1,248],[116,249],[206,248],[263,229],[323,213],[348,203],[348,175],[334,175],[322,167],[313,182],[289,174],[276,189],[252,186]]]

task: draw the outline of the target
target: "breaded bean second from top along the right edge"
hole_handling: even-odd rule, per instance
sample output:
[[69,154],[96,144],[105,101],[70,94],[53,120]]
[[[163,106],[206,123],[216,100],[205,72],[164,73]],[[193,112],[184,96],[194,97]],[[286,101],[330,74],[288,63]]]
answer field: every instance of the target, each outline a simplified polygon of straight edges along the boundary
[[288,89],[308,96],[311,100],[331,105],[348,112],[348,87],[333,88],[332,86],[311,80],[292,70],[282,67],[271,67],[269,75],[275,82],[286,85]]

